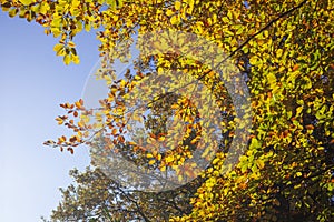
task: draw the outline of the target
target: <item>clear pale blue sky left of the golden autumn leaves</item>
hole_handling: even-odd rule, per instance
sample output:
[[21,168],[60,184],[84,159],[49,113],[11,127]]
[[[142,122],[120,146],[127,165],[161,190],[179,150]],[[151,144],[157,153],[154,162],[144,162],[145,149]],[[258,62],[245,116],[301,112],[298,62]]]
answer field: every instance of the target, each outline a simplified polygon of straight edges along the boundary
[[81,63],[67,67],[40,26],[0,12],[0,221],[35,222],[57,206],[58,188],[71,182],[68,171],[89,164],[85,148],[71,155],[42,142],[69,134],[55,121],[63,113],[59,103],[81,97],[98,41],[80,34]]

